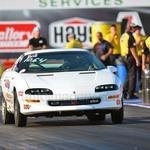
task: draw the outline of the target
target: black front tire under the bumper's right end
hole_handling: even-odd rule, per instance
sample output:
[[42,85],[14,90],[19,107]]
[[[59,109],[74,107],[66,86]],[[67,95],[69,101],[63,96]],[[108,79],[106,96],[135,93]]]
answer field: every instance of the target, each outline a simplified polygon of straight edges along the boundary
[[124,118],[124,109],[123,107],[119,110],[112,110],[111,120],[114,124],[121,124]]

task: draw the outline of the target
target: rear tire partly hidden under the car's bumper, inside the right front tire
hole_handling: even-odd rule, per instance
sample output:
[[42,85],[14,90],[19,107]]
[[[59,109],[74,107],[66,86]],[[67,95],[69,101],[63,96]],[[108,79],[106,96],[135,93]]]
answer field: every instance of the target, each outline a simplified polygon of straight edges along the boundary
[[104,121],[105,113],[90,113],[86,115],[90,122]]

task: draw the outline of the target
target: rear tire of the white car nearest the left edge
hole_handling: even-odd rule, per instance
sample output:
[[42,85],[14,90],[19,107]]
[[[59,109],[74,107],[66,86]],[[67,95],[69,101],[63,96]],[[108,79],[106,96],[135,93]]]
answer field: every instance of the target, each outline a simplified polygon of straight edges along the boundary
[[1,96],[1,98],[2,98],[2,123],[14,124],[15,123],[14,114],[10,113],[7,110],[7,104],[6,101],[4,100],[3,95]]

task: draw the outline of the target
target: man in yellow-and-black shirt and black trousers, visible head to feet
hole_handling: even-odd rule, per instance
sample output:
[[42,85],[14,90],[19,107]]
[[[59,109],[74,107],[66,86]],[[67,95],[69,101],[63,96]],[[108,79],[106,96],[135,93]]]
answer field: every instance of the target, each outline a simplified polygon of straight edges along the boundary
[[121,35],[120,46],[121,56],[126,66],[127,77],[123,87],[123,94],[126,99],[137,98],[135,93],[136,72],[140,66],[139,58],[136,51],[136,41],[133,37],[134,27],[127,27],[125,33]]

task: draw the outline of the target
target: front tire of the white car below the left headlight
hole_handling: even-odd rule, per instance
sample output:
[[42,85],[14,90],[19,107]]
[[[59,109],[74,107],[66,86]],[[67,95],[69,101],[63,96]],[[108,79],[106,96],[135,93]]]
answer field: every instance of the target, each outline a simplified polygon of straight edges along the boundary
[[14,116],[15,116],[15,125],[16,127],[25,127],[27,124],[27,117],[20,113],[20,105],[17,99],[16,92],[14,93],[15,97],[15,109],[14,109]]

